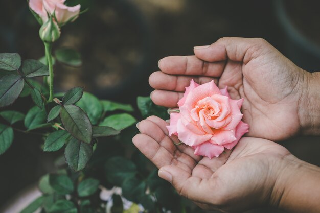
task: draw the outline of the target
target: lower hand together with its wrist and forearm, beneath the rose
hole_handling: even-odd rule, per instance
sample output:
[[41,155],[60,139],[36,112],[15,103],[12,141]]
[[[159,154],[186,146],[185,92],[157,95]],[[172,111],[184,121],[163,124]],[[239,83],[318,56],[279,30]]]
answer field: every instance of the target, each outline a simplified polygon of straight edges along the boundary
[[151,116],[137,126],[134,145],[159,168],[181,196],[203,209],[242,212],[274,206],[290,212],[320,211],[320,168],[295,158],[272,141],[243,137],[218,158],[195,156],[175,146],[167,122]]

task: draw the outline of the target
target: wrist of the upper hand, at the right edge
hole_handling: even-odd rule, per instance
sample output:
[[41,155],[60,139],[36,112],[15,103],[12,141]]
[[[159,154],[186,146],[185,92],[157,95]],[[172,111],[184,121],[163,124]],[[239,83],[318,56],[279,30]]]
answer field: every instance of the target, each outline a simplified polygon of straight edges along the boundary
[[320,135],[320,72],[304,72],[298,116],[301,133]]

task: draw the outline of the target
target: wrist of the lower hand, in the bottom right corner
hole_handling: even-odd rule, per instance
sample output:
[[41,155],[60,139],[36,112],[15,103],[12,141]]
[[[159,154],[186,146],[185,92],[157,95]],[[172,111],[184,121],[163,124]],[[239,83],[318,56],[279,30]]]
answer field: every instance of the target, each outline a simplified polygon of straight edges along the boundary
[[320,212],[320,168],[293,155],[282,165],[270,205],[289,212]]

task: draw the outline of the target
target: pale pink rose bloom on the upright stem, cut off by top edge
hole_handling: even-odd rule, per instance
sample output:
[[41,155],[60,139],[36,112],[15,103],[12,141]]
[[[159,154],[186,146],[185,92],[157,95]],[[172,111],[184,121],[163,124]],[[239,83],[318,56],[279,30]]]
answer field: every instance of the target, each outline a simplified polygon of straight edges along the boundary
[[48,14],[53,14],[57,18],[58,24],[74,20],[80,12],[80,5],[74,7],[67,7],[64,5],[65,0],[30,0],[30,8],[40,16],[43,23],[48,20]]

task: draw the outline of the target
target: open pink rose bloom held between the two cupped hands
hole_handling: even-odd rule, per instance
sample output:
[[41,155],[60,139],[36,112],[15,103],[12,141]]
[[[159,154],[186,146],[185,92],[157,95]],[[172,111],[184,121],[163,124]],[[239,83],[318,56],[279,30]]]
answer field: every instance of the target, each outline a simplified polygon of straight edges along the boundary
[[178,102],[180,113],[170,114],[169,135],[195,149],[195,155],[219,157],[224,148],[232,149],[249,125],[242,122],[243,99],[232,100],[227,87],[213,81],[199,85],[191,80]]

